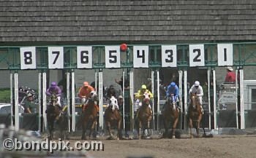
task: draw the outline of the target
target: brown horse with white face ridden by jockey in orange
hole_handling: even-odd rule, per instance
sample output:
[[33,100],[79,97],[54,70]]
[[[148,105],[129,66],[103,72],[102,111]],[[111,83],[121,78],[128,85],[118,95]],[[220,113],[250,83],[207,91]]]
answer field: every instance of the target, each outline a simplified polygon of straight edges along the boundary
[[[86,139],[86,129],[89,127],[89,137],[91,138],[91,133],[94,128],[97,126],[97,94],[96,92],[91,92],[90,98],[87,101],[87,105],[84,106],[86,108],[83,109],[81,122],[82,122],[82,140]],[[91,125],[91,126],[90,126]]]

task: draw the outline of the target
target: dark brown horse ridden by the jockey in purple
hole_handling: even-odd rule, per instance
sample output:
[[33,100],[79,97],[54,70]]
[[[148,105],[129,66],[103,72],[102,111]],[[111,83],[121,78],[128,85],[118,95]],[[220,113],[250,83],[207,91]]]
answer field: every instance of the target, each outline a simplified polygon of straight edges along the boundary
[[57,106],[58,96],[56,94],[50,95],[50,104],[46,109],[49,139],[53,139],[54,123],[58,123],[60,130],[60,138],[64,139],[64,116],[61,114],[61,108]]

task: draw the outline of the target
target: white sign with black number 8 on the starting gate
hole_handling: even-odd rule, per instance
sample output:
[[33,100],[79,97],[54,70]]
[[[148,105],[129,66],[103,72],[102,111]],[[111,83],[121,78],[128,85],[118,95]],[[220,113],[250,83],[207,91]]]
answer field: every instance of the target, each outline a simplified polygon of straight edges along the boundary
[[20,47],[20,68],[36,69],[36,47]]

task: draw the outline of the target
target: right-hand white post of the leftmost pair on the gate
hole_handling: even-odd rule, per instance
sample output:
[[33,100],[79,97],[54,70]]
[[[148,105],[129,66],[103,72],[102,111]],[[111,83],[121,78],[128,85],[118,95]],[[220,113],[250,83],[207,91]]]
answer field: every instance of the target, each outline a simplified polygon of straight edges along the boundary
[[14,74],[14,103],[15,103],[15,130],[18,131],[20,128],[19,119],[19,100],[18,100],[18,73]]

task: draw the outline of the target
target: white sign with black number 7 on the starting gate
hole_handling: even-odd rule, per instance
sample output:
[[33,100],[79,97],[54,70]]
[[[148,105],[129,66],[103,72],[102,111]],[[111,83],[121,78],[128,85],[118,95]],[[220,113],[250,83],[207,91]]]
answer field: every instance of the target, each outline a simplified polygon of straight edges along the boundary
[[48,67],[64,68],[63,47],[48,47]]

